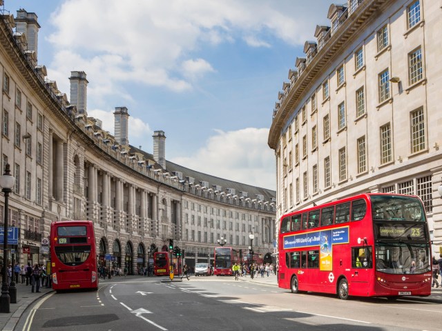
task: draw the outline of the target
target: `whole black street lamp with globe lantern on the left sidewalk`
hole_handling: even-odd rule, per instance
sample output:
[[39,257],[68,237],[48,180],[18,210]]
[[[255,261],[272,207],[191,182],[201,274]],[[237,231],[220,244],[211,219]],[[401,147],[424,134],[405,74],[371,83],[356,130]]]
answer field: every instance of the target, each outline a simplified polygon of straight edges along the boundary
[[3,281],[1,283],[0,312],[10,312],[10,296],[8,285],[8,221],[9,221],[9,194],[14,187],[15,178],[10,174],[10,165],[6,163],[5,173],[0,176],[1,192],[5,194],[3,217]]

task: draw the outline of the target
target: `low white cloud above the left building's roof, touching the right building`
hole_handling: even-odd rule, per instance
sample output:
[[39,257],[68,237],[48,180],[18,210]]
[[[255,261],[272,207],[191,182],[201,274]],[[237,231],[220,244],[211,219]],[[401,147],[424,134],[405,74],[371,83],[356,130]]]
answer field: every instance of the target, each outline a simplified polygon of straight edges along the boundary
[[268,136],[267,128],[216,130],[204,148],[171,161],[216,177],[275,190],[275,156],[266,148]]

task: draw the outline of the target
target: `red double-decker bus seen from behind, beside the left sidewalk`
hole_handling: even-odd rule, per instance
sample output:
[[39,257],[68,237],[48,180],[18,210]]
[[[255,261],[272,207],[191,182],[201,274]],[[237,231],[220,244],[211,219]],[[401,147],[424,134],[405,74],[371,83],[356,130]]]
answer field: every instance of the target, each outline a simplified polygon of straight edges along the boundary
[[92,221],[50,224],[52,288],[97,290],[97,252]]

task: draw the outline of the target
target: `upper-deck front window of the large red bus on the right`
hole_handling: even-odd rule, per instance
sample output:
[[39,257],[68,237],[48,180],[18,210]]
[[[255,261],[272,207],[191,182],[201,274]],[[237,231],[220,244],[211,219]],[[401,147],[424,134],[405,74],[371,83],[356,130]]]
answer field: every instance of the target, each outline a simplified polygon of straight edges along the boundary
[[374,221],[425,222],[425,212],[416,197],[374,195],[371,199]]

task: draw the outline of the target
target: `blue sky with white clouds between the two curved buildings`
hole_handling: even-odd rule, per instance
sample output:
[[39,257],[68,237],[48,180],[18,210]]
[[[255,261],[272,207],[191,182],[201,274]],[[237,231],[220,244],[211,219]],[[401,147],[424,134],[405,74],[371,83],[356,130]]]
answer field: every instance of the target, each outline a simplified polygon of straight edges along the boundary
[[[345,2],[341,0],[340,4]],[[35,12],[38,63],[68,99],[71,71],[88,79],[88,116],[114,134],[126,106],[129,143],[216,177],[276,190],[267,145],[282,83],[304,57],[330,0],[5,0]]]

